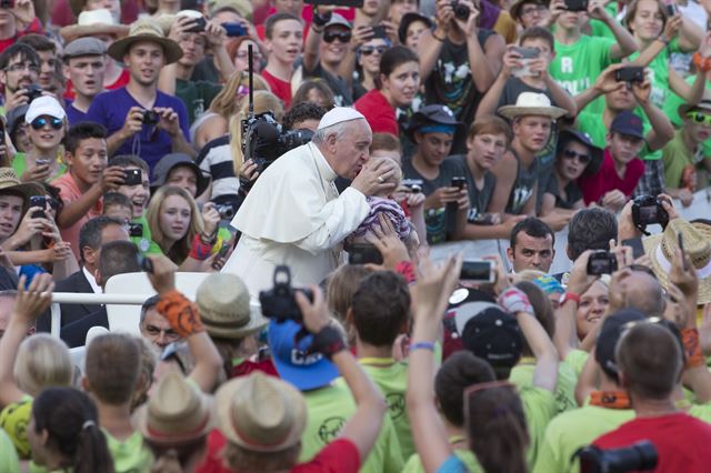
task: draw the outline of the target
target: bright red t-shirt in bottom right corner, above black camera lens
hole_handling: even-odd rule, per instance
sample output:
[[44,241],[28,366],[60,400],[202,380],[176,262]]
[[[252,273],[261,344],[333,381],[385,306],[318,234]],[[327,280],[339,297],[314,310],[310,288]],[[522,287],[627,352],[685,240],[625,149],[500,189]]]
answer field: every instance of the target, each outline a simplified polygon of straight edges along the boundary
[[618,449],[648,440],[657,450],[655,473],[702,473],[711,465],[711,425],[685,413],[637,417],[594,441]]

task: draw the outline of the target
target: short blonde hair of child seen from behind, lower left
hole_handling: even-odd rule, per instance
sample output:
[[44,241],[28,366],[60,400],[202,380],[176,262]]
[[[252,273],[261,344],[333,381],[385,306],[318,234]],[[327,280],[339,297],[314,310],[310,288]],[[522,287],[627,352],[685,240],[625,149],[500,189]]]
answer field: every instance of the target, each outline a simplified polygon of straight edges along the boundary
[[71,386],[74,368],[67,344],[47,333],[20,343],[13,375],[22,391],[36,397],[44,388]]

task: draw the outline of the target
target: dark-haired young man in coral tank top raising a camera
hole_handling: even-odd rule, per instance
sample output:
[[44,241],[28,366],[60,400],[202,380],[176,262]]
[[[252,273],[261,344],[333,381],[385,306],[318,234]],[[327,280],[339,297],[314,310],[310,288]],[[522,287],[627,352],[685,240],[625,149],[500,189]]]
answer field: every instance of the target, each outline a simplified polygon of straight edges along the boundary
[[123,183],[123,170],[108,168],[107,130],[97,123],[79,123],[69,129],[64,142],[64,160],[69,172],[52,181],[64,203],[57,215],[62,239],[71,243],[77,259],[81,256],[79,230],[101,215],[101,198]]

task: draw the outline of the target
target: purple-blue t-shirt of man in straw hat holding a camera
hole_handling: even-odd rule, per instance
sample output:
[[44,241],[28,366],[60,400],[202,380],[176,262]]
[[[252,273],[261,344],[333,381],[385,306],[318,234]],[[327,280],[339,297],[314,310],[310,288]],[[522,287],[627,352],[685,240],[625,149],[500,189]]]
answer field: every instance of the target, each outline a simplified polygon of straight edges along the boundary
[[[131,107],[143,108],[131,97],[126,87],[122,87],[94,97],[86,119],[101,123],[109,130],[109,135],[111,135],[123,127],[126,115],[129,113]],[[153,108],[173,109],[173,111],[178,113],[180,129],[186,137],[186,141],[190,141],[188,112],[180,99],[158,91]],[[152,171],[156,163],[162,157],[172,152],[170,134],[156,127],[157,125],[143,125],[141,132],[126,140],[114,154],[138,154],[148,163]]]

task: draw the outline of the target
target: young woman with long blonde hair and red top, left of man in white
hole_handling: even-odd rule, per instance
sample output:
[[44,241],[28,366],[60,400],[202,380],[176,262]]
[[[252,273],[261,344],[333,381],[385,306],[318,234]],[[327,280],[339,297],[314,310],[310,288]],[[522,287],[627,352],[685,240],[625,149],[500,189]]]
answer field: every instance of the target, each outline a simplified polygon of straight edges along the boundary
[[207,271],[212,256],[223,242],[218,239],[220,213],[208,202],[198,204],[188,191],[172,185],[162,187],[148,205],[148,225],[158,243],[180,271]]

